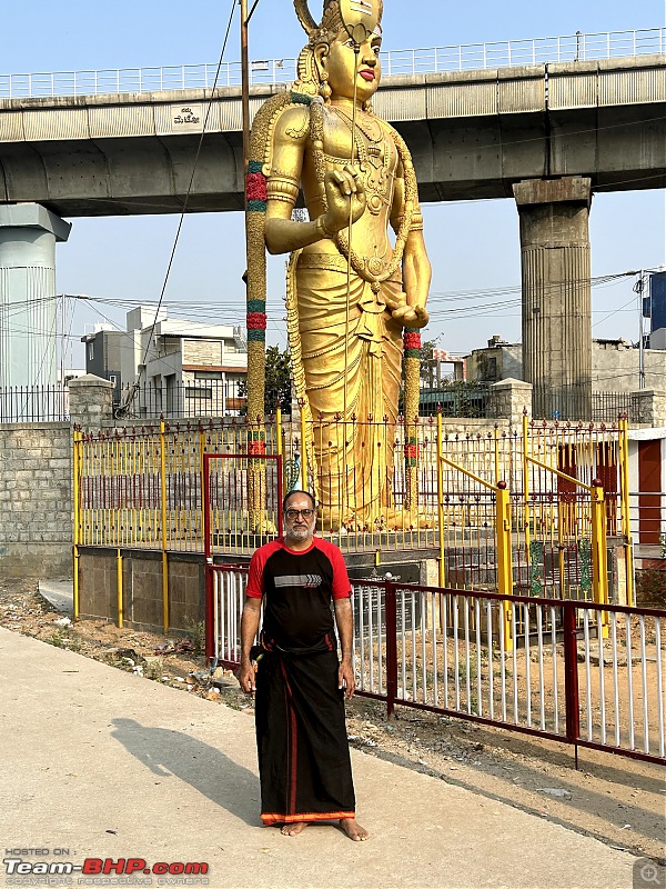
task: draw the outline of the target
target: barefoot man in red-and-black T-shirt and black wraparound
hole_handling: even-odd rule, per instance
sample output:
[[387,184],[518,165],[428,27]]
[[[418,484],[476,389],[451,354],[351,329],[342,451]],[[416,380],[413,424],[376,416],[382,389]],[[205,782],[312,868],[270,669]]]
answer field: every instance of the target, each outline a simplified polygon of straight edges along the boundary
[[[344,717],[344,696],[351,698],[355,685],[346,568],[337,547],[314,537],[312,495],[289,493],[283,515],[284,538],[252,557],[241,621],[239,682],[243,691],[256,692],[261,818],[283,823],[289,837],[310,821],[336,819],[350,839],[365,840],[367,831],[355,819]],[[262,599],[255,668],[250,652]]]

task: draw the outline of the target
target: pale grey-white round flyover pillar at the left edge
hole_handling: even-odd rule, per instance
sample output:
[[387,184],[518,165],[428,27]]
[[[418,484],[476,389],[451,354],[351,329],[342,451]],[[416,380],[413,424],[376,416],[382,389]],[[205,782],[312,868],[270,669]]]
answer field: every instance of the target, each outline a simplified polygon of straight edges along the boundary
[[57,382],[56,243],[70,229],[39,203],[0,204],[0,388]]

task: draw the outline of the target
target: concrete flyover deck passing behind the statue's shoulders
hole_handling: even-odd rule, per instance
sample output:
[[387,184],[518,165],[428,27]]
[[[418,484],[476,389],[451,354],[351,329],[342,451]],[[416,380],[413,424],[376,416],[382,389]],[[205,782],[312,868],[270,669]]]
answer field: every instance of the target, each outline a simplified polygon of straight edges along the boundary
[[[278,87],[253,87],[253,111]],[[0,100],[0,202],[63,217],[183,207],[210,90]],[[525,179],[666,187],[666,54],[387,78],[424,202],[513,197]],[[214,92],[188,210],[242,207],[241,102]]]

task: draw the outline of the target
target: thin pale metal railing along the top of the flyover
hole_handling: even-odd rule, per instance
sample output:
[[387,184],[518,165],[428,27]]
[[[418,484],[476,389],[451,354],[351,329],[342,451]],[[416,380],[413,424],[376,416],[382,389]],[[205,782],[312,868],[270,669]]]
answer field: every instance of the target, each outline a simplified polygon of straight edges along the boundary
[[[383,53],[382,63],[384,77],[391,78],[547,62],[594,61],[663,52],[666,52],[666,28],[645,28],[393,50]],[[176,64],[0,74],[0,99],[211,89],[215,84],[216,71],[216,64]],[[263,59],[250,63],[252,84],[291,83],[295,78],[296,59]],[[216,86],[240,87],[241,63],[223,63]]]

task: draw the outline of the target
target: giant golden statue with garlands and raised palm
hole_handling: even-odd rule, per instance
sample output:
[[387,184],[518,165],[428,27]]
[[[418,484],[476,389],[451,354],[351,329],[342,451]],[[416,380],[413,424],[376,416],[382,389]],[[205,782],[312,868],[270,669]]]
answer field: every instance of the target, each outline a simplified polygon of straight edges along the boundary
[[[417,359],[417,329],[427,323],[431,266],[416,177],[402,137],[371,106],[381,78],[382,0],[326,0],[320,26],[307,0],[294,6],[310,38],[299,79],[265,102],[251,137],[249,414],[263,414],[268,248],[292,253],[289,343],[313,430],[303,450],[320,516],[327,528],[385,527],[394,521],[403,353]],[[311,221],[292,219],[301,190]],[[418,411],[417,360],[405,369],[411,422]],[[407,465],[415,450],[408,439]]]

